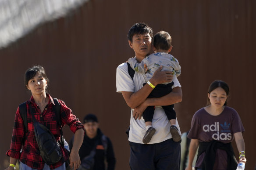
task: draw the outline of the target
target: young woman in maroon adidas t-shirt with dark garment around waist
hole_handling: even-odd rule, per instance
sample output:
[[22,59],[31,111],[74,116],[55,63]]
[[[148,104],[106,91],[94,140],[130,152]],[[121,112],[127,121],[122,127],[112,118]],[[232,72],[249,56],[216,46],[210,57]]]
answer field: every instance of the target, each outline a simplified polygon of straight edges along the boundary
[[228,84],[221,80],[211,83],[207,105],[196,111],[192,118],[188,138],[191,139],[188,167],[198,148],[196,170],[235,170],[237,160],[231,142],[235,139],[239,152],[239,162],[246,162],[245,142],[242,132],[245,129],[235,109],[227,106]]

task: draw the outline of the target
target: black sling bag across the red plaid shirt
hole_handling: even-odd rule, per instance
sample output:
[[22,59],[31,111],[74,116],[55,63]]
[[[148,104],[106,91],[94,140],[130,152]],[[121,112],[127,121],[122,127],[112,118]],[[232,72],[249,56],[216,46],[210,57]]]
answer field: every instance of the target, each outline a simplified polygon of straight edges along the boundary
[[36,142],[38,144],[41,157],[47,165],[59,162],[62,158],[59,143],[56,142],[54,135],[45,125],[36,121],[31,104],[29,104],[29,108],[32,114]]

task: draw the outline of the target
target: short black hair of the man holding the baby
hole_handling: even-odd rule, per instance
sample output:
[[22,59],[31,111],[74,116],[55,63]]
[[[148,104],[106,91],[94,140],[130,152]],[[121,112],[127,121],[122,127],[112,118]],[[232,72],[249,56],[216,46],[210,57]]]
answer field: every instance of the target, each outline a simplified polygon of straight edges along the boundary
[[146,34],[149,33],[150,37],[153,37],[153,30],[152,28],[150,28],[147,24],[145,23],[135,23],[134,25],[132,25],[132,27],[130,28],[129,32],[128,32],[128,40],[130,40],[132,42],[132,37],[134,35],[142,35],[142,34]]

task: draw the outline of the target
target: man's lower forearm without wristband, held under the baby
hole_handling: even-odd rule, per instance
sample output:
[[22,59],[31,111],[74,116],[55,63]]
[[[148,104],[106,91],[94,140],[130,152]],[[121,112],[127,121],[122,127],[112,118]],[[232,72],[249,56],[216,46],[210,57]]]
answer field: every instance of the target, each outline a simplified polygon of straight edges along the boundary
[[172,92],[159,98],[147,98],[147,106],[167,106],[182,101],[181,87],[174,87]]

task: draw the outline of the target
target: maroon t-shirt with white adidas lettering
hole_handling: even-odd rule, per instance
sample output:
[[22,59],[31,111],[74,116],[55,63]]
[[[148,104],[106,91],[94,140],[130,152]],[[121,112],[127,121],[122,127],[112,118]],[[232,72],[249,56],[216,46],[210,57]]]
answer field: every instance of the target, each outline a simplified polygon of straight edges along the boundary
[[[188,138],[199,142],[210,142],[213,139],[223,143],[232,142],[234,133],[245,132],[242,121],[235,109],[225,106],[217,116],[209,114],[204,108],[197,111],[191,122]],[[199,156],[196,166],[202,167],[204,153]],[[217,149],[214,170],[227,170],[227,153]]]

